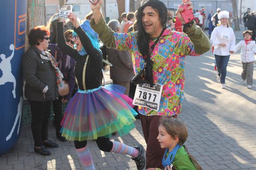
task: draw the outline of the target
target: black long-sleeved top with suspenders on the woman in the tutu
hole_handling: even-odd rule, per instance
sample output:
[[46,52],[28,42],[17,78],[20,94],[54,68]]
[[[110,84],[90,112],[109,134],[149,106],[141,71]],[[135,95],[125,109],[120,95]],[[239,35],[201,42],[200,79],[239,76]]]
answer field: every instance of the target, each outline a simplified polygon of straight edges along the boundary
[[74,28],[74,31],[78,34],[81,44],[87,52],[85,56],[81,56],[76,48],[72,48],[66,44],[62,22],[57,23],[57,30],[58,47],[63,54],[69,55],[76,61],[75,76],[79,89],[86,90],[98,88],[101,85],[102,54],[99,50],[93,47],[90,38],[80,26]]

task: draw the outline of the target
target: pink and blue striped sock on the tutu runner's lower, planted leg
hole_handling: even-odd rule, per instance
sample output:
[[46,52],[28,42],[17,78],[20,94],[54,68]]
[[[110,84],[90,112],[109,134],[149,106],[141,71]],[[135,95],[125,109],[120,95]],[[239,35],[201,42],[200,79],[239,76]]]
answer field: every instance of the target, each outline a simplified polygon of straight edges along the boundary
[[87,146],[80,149],[76,149],[76,153],[85,170],[95,170],[93,159]]

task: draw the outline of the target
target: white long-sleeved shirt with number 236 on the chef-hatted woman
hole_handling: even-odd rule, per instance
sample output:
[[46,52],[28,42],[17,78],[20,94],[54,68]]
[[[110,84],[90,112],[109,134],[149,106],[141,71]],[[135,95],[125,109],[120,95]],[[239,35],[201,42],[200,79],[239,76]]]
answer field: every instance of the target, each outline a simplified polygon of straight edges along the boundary
[[[227,56],[230,55],[230,51],[236,51],[236,37],[233,29],[230,27],[223,25],[215,27],[210,41],[214,46],[213,54]],[[221,47],[220,43],[224,43],[226,46]]]

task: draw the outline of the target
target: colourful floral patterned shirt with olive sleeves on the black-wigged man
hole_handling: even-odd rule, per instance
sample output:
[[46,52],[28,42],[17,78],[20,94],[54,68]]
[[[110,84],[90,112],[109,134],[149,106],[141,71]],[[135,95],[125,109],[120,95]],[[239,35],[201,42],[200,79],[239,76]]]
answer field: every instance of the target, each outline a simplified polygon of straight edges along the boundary
[[[103,18],[97,25],[92,20],[90,25],[108,47],[131,51],[136,73],[143,69],[144,59],[138,50],[137,32],[114,33]],[[153,43],[151,41],[149,45]],[[195,23],[186,34],[166,28],[151,53],[151,60],[154,62],[153,81],[163,85],[160,108],[159,111],[154,111],[139,107],[139,112],[146,116],[179,114],[184,98],[185,56],[198,56],[209,49],[209,39]]]

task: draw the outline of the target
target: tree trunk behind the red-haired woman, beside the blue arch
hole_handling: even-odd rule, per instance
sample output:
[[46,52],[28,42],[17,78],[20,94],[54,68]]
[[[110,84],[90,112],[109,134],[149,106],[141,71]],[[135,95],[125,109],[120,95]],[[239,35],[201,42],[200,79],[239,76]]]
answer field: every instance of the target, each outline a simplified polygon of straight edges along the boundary
[[[45,3],[44,0],[27,0],[27,21],[26,35],[35,26],[46,25]],[[26,36],[26,50],[29,48],[28,36]]]

